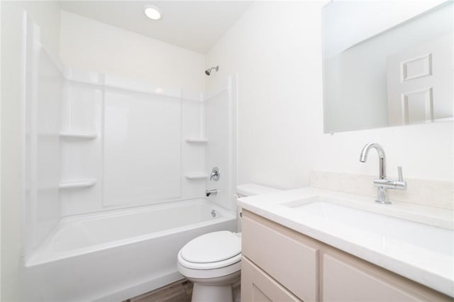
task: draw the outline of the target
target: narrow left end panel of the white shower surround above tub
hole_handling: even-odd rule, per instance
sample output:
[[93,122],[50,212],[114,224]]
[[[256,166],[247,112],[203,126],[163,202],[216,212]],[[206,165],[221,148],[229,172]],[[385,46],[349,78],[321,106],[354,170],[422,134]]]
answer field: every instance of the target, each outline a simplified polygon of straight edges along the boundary
[[60,100],[63,77],[23,13],[23,250],[43,242],[60,219]]

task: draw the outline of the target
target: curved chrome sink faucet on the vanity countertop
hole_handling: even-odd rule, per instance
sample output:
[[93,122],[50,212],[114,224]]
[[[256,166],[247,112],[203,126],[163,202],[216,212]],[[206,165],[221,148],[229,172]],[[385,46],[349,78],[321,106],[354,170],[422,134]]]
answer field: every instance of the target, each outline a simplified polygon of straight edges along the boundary
[[369,142],[368,144],[366,144],[361,150],[360,162],[366,162],[367,153],[372,148],[375,148],[375,150],[377,150],[379,157],[379,179],[374,179],[374,186],[378,187],[377,199],[375,200],[375,202],[391,204],[391,201],[389,201],[388,189],[406,189],[406,181],[404,181],[404,177],[402,177],[402,167],[397,167],[399,171],[398,180],[386,179],[386,157],[384,156],[384,150],[381,145],[377,144],[376,142]]

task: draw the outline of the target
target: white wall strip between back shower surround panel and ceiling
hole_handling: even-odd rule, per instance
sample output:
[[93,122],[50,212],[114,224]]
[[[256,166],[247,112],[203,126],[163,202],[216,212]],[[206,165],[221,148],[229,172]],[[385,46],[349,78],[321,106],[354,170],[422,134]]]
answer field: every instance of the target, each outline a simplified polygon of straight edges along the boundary
[[204,91],[204,55],[67,11],[61,11],[60,56],[67,67]]

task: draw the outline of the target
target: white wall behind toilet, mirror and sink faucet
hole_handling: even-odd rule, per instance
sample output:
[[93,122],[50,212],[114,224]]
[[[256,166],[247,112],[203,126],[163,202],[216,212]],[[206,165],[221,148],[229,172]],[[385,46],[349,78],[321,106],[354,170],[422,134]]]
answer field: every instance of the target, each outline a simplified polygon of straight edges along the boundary
[[223,35],[206,66],[210,89],[238,72],[238,184],[282,189],[309,185],[311,170],[377,174],[376,141],[387,153],[388,174],[453,181],[453,123],[323,134],[321,2],[255,2]]

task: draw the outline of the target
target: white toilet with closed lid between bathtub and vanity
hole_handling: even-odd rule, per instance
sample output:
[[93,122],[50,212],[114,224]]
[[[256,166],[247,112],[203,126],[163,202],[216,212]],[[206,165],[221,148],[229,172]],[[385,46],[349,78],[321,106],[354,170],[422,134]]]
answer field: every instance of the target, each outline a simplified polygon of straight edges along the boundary
[[[243,184],[237,191],[243,197],[279,190]],[[196,237],[179,250],[177,267],[194,282],[192,302],[232,302],[232,285],[240,281],[241,233],[223,230]]]

